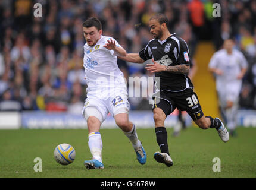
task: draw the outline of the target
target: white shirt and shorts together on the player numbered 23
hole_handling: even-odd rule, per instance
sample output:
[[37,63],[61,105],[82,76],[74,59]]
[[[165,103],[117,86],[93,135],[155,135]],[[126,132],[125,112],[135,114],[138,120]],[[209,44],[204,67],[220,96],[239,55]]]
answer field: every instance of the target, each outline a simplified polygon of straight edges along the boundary
[[[117,56],[114,50],[104,47],[108,40],[113,40],[117,47],[117,41],[112,37],[101,36],[95,46],[84,46],[83,66],[85,68],[85,79],[87,99],[85,107],[95,106],[101,115],[98,118],[101,123],[105,120],[108,112],[111,115],[117,113],[128,113],[129,102],[127,100],[126,82],[123,72],[117,65]],[[92,113],[86,113],[86,119]]]

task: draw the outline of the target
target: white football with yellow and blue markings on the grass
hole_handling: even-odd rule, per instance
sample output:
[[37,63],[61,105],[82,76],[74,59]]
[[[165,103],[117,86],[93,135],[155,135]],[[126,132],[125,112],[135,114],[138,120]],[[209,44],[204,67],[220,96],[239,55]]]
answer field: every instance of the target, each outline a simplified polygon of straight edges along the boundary
[[76,151],[70,144],[59,144],[54,150],[54,158],[61,165],[71,164],[75,157]]

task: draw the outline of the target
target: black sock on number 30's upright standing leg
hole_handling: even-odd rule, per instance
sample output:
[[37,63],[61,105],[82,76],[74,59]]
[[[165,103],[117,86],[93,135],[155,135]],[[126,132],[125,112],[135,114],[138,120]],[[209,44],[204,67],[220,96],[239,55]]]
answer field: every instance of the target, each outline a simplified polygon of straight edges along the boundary
[[162,153],[169,154],[169,148],[167,143],[167,131],[165,127],[155,128],[155,135],[157,135],[157,143]]

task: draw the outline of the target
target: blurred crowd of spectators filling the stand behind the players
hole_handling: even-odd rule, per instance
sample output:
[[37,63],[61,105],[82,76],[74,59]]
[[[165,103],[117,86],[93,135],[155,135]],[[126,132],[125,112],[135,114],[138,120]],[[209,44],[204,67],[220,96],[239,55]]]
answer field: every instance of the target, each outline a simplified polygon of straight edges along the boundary
[[[42,18],[33,15],[37,2]],[[213,18],[215,2],[221,17]],[[86,98],[83,21],[98,17],[104,36],[137,53],[152,39],[147,22],[157,12],[166,14],[171,33],[188,43],[191,59],[200,40],[212,40],[218,50],[224,39],[234,37],[249,62],[241,107],[256,109],[254,0],[1,0],[0,110],[81,113]],[[118,66],[127,79],[148,76],[143,65],[118,60]],[[151,109],[145,97],[130,99],[130,104],[132,110]]]

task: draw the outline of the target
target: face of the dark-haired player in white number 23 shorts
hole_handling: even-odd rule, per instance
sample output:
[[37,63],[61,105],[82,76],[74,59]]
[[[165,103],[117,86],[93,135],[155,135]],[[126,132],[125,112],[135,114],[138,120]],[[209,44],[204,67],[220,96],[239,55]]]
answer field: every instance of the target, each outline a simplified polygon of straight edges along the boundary
[[95,46],[101,37],[101,34],[102,30],[96,29],[95,26],[89,28],[83,27],[83,36],[85,37],[88,46]]

